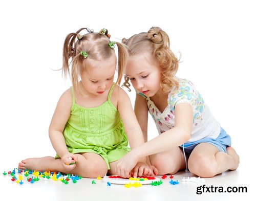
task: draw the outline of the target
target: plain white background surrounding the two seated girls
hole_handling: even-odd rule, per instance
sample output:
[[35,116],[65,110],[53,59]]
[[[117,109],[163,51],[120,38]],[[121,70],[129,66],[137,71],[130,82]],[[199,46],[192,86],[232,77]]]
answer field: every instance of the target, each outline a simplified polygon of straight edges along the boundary
[[[5,3],[4,3],[5,2]],[[178,76],[191,80],[231,135],[240,170],[252,168],[255,142],[255,6],[253,1],[1,1],[1,171],[20,160],[55,155],[48,126],[60,95],[68,33],[109,30],[119,41],[152,26],[181,53]],[[118,38],[118,39],[116,39]],[[129,93],[134,103],[134,92]],[[150,123],[150,138],[157,135]]]

